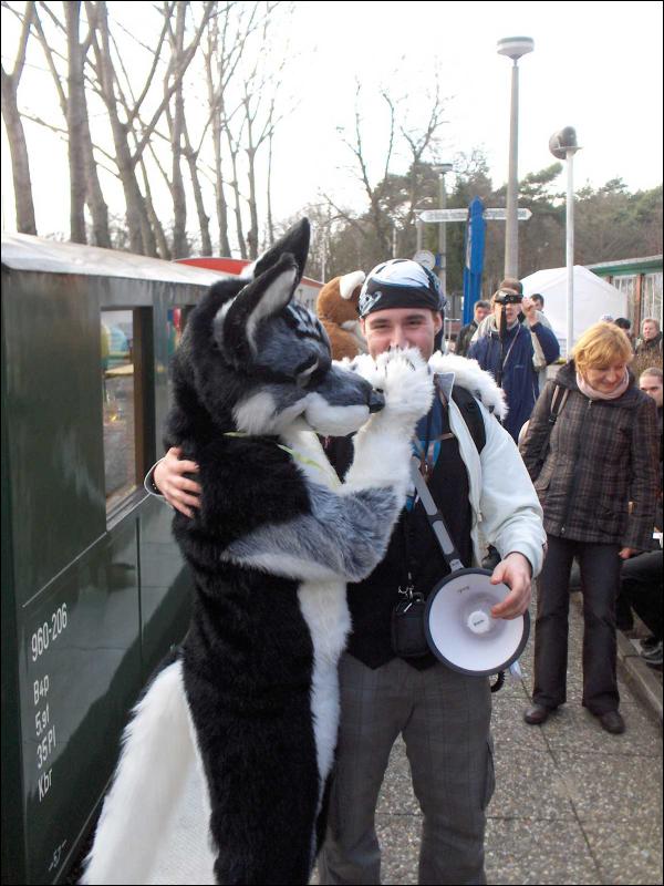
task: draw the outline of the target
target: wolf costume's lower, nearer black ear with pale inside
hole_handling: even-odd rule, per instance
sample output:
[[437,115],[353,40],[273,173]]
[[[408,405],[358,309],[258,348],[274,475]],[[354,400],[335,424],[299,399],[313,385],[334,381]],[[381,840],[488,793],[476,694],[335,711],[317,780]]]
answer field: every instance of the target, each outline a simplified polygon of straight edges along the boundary
[[240,359],[256,354],[256,330],[261,320],[279,313],[291,300],[300,279],[295,258],[284,253],[276,265],[248,284],[227,310],[215,318],[215,339]]

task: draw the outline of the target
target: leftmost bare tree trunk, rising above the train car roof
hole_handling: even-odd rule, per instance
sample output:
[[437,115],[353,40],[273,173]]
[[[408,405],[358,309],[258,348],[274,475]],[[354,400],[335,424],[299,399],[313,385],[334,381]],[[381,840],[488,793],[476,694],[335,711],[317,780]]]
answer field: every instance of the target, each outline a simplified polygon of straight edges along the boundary
[[[3,3],[3,6],[6,4]],[[14,59],[11,73],[8,74],[4,70],[4,65],[2,65],[2,119],[7,127],[7,138],[9,141],[9,151],[11,154],[11,172],[17,207],[17,228],[21,234],[37,234],[28,145],[25,143],[25,133],[17,97],[23,65],[25,63],[25,51],[33,14],[34,3],[25,3],[21,37],[19,39],[17,58]]]

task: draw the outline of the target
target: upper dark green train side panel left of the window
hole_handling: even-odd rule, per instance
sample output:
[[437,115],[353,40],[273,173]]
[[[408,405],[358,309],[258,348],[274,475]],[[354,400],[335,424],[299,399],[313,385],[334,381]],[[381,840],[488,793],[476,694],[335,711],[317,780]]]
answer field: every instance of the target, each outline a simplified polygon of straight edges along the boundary
[[100,307],[90,279],[13,271],[2,277],[15,588],[22,605],[106,528]]

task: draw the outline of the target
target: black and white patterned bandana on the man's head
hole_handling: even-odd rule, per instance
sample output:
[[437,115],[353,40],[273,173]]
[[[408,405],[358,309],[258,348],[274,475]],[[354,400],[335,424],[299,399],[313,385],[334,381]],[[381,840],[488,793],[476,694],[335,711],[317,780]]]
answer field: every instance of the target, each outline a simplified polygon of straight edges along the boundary
[[357,311],[366,317],[388,308],[428,308],[442,311],[447,303],[435,274],[409,258],[393,258],[371,270],[360,292]]

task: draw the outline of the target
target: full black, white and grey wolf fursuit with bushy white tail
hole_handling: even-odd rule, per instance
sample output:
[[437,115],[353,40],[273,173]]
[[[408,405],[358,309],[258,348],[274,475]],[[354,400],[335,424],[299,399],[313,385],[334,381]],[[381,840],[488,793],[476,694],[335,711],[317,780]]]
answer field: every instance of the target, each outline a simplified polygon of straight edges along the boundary
[[[198,463],[203,487],[195,517],[174,517],[193,620],[125,731],[84,883],[149,882],[193,760],[209,873],[188,882],[309,882],[345,585],[384,556],[433,382],[415,350],[364,354],[353,370],[332,361],[321,323],[293,301],[308,249],[303,219],[246,279],[215,284],[176,353],[166,445]],[[317,435],[355,431],[341,483]]]

